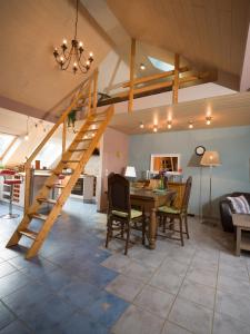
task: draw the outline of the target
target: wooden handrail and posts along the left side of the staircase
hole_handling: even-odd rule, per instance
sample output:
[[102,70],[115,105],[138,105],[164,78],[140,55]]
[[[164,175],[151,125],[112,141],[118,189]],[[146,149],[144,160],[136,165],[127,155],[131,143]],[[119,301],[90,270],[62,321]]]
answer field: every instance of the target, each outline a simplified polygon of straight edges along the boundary
[[[41,149],[46,146],[46,144],[52,138],[54,132],[62,125],[62,155],[66,151],[66,143],[67,143],[67,118],[68,115],[78,107],[79,101],[88,101],[87,110],[84,112],[84,117],[90,116],[91,114],[97,111],[97,84],[98,84],[98,70],[96,70],[87,80],[84,80],[80,86],[74,89],[70,95],[63,99],[63,104],[68,100],[68,107],[66,107],[64,111],[59,116],[58,121],[54,126],[49,130],[43,140],[38,145],[38,147],[33,150],[30,157],[27,159],[24,164],[24,173],[26,173],[26,191],[24,191],[24,213],[27,213],[28,207],[30,205],[30,191],[31,191],[31,177],[32,177],[32,161],[36,159]],[[83,104],[82,104],[83,105]],[[58,105],[59,106],[59,105]],[[79,119],[80,120],[80,119]]]

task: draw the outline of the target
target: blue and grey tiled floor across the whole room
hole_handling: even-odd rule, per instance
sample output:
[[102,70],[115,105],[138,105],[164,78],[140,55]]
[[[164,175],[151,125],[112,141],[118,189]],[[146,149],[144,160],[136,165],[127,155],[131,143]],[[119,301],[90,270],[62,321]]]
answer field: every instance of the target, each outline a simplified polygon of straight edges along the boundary
[[0,219],[0,334],[250,334],[249,254],[236,257],[220,228],[189,223],[184,247],[159,239],[124,256],[121,242],[103,248],[104,215],[71,200],[27,262],[23,247],[4,248],[18,219]]

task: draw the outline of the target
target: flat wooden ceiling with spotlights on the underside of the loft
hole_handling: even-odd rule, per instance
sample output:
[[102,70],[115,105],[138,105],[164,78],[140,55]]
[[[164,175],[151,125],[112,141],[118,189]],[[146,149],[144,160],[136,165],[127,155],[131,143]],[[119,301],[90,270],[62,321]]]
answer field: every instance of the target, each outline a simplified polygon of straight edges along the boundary
[[[219,128],[250,125],[250,92],[233,94],[214,98],[180,102],[174,106],[162,106],[127,114],[114,115],[110,126],[128,135],[152,132],[153,124],[159,131],[168,131],[169,114],[172,118],[172,129],[188,130],[188,122],[193,121],[194,129]],[[211,111],[211,126],[206,125],[208,108]],[[144,129],[139,125],[143,121]]]

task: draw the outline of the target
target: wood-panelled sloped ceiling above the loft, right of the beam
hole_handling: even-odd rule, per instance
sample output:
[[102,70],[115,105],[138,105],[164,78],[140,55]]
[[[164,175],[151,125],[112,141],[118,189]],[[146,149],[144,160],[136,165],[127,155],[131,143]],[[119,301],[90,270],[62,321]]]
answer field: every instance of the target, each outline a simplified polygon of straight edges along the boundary
[[107,0],[127,32],[200,67],[240,76],[249,0]]

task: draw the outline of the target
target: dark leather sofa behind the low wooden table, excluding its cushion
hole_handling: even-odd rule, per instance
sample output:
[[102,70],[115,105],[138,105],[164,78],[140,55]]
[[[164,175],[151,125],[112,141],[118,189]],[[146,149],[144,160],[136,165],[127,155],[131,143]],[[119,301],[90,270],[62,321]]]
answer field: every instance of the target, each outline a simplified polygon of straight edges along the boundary
[[238,197],[243,195],[250,205],[250,193],[232,193],[224,196],[222,200],[220,200],[220,218],[223,230],[226,232],[233,232],[233,224],[232,224],[232,209],[231,203],[227,199],[228,196],[230,197]]

